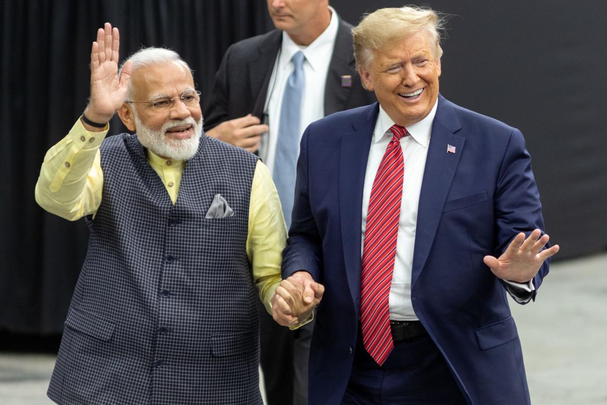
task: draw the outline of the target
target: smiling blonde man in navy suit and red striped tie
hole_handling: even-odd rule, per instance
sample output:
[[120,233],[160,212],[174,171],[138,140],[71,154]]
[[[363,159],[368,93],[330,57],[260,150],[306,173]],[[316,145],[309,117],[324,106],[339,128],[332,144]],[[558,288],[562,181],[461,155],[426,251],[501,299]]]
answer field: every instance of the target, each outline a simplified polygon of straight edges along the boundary
[[558,245],[521,132],[439,94],[442,25],[366,16],[354,55],[379,102],[302,137],[274,318],[322,297],[310,404],[530,403],[506,293],[535,299]]

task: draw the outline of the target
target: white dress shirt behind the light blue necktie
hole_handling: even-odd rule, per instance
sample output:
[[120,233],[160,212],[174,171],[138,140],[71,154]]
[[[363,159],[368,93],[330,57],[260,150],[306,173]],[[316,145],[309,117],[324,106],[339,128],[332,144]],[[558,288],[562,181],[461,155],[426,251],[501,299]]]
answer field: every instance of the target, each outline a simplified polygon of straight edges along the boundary
[[[299,123],[299,137],[304,134],[307,126],[313,121],[320,120],[325,116],[325,83],[327,83],[327,72],[333,55],[333,46],[337,36],[337,13],[332,7],[331,21],[314,42],[308,46],[299,46],[286,33],[282,33],[282,46],[274,63],[274,70],[268,85],[266,95],[266,109],[268,114],[268,126],[270,130],[262,135],[259,147],[259,157],[268,166],[270,173],[274,172],[274,154],[276,152],[276,140],[279,136],[280,109],[282,108],[282,94],[285,84],[294,66],[291,58],[297,51],[302,51],[305,56],[304,75],[305,87],[301,104],[301,115]],[[299,144],[297,145],[299,148]],[[298,151],[299,152],[299,151]]]

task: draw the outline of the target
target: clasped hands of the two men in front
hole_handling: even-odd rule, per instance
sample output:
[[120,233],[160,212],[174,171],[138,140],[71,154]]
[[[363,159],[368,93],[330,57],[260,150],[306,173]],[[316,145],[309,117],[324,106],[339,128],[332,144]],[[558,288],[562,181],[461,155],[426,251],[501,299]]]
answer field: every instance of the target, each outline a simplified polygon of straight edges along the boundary
[[325,287],[305,270],[280,282],[272,297],[272,317],[283,326],[304,324],[320,304]]

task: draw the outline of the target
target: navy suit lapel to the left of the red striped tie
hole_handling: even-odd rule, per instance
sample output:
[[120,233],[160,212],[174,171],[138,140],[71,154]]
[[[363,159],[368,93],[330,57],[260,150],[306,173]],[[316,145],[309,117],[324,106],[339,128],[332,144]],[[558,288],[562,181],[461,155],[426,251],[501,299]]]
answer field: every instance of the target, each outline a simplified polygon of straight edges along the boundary
[[357,311],[361,296],[362,190],[378,113],[378,103],[368,106],[352,124],[353,131],[342,135],[339,159],[339,215],[345,272]]

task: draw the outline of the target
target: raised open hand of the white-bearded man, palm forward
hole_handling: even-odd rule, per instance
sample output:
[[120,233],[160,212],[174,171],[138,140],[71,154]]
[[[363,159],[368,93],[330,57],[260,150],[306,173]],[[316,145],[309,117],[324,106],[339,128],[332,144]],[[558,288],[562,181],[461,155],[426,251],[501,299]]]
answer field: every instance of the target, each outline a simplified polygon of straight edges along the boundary
[[118,78],[119,47],[118,29],[106,22],[97,30],[97,41],[90,51],[90,103],[85,111],[89,120],[107,122],[124,103],[132,64],[124,64]]

